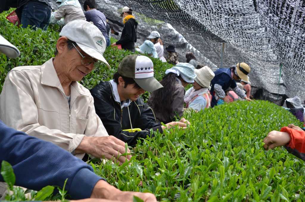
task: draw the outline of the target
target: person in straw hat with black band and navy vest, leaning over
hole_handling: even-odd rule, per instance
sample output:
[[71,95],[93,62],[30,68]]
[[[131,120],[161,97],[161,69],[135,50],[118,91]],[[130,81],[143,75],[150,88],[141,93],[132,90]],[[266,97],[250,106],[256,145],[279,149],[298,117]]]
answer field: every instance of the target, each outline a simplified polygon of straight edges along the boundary
[[211,107],[217,105],[217,101],[224,99],[226,96],[225,90],[229,87],[241,98],[248,101],[251,99],[246,97],[245,92],[243,92],[237,85],[237,80],[243,79],[248,81],[248,74],[250,73],[250,67],[247,63],[237,63],[236,66],[231,68],[219,68],[214,71],[215,77],[211,81],[212,88],[210,90],[212,94]]

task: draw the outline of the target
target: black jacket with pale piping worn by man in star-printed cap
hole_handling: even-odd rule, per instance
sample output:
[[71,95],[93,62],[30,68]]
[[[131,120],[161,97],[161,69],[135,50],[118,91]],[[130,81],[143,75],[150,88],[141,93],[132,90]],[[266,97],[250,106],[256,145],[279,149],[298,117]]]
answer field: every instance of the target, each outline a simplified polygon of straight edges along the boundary
[[[120,103],[114,100],[112,85],[109,81],[101,82],[90,90],[94,98],[94,107],[96,114],[101,118],[109,135],[127,142],[128,146],[134,146],[139,138],[153,136],[150,134],[150,129],[156,131],[159,129],[163,132],[161,124],[156,123],[155,115],[152,109],[143,102],[143,99],[138,98],[132,101],[127,107],[121,110]],[[124,129],[141,128],[143,131],[127,132]]]

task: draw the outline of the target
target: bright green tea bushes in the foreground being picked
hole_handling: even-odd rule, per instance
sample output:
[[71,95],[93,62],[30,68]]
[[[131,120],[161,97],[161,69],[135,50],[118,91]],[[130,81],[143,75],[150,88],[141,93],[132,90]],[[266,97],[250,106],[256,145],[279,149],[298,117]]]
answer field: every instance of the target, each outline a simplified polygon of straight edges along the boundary
[[[147,138],[131,163],[92,164],[121,190],[164,201],[304,201],[304,162],[283,148],[265,151],[272,130],[302,124],[267,101],[238,101],[187,115],[185,131]],[[139,186],[142,181],[143,185]]]

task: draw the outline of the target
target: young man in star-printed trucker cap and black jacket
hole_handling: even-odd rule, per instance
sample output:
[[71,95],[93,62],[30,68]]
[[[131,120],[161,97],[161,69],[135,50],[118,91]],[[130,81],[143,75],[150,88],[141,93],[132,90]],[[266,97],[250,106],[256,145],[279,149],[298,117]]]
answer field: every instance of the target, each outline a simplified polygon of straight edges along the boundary
[[[163,133],[164,129],[174,125],[185,129],[189,124],[184,118],[166,126],[156,123],[152,109],[140,98],[145,91],[163,87],[153,76],[153,63],[148,57],[129,55],[119,64],[113,80],[101,82],[90,91],[95,112],[108,134],[127,142],[129,146],[134,146],[139,138],[153,136],[150,129]],[[135,132],[135,128],[141,130]],[[131,130],[124,131],[126,129]]]

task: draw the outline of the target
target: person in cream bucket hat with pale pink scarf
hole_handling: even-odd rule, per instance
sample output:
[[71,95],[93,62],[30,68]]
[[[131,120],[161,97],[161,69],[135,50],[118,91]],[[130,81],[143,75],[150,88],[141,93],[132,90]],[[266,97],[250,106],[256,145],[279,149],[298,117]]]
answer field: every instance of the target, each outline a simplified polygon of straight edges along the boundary
[[192,108],[193,110],[200,111],[211,106],[212,95],[210,93],[210,83],[215,74],[208,66],[195,69],[193,87],[185,92],[184,102],[185,108]]

